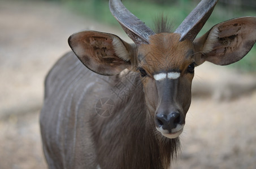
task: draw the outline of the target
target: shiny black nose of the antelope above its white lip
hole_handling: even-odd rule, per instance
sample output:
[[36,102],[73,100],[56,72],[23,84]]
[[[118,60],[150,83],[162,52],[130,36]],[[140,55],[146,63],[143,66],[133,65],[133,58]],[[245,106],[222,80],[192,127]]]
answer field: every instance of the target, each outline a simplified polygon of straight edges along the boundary
[[163,130],[168,130],[172,133],[172,129],[177,127],[177,124],[183,124],[183,118],[181,118],[180,113],[172,112],[168,114],[157,113],[155,118],[156,126],[159,128],[163,128]]

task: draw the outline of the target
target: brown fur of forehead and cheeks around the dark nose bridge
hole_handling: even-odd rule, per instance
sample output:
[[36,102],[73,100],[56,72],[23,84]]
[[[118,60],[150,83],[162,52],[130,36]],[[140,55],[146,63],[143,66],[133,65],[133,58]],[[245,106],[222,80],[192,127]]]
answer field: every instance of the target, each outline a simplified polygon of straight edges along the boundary
[[[179,41],[180,35],[160,33],[150,37],[150,44],[138,48],[138,67],[145,69],[147,77],[142,78],[145,99],[151,115],[155,115],[162,100],[163,93],[170,89],[169,105],[176,106],[184,116],[188,112],[191,100],[191,84],[194,74],[187,68],[194,62],[193,44],[190,41]],[[154,74],[180,72],[175,87],[164,84],[157,89]]]

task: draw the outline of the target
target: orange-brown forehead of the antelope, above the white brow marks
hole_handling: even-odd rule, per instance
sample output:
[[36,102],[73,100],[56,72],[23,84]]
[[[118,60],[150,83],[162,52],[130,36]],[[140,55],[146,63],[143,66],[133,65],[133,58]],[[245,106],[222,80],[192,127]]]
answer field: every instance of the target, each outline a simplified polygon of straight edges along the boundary
[[193,45],[189,41],[179,42],[180,35],[160,33],[150,37],[150,43],[141,45],[138,59],[141,66],[151,73],[180,71],[191,61]]

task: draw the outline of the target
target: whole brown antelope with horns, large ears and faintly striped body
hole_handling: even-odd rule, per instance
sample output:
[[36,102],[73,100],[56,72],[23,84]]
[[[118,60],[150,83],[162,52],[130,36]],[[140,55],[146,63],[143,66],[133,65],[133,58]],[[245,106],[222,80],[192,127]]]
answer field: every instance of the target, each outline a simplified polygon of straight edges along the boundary
[[134,43],[117,35],[72,34],[72,52],[47,74],[40,127],[49,168],[170,168],[180,152],[194,67],[228,65],[256,41],[256,17],[213,26],[196,38],[218,0],[202,0],[178,26],[151,30],[110,0]]

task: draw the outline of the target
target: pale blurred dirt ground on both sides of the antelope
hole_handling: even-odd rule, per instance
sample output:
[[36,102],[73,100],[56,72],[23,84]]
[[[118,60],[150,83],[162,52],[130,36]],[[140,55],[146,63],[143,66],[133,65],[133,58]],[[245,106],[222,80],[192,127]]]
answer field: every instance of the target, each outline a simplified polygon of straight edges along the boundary
[[[52,2],[0,0],[0,168],[47,168],[38,116],[44,77],[83,29],[126,35]],[[255,56],[256,57],[256,56]],[[256,168],[256,74],[205,64],[172,168]]]

